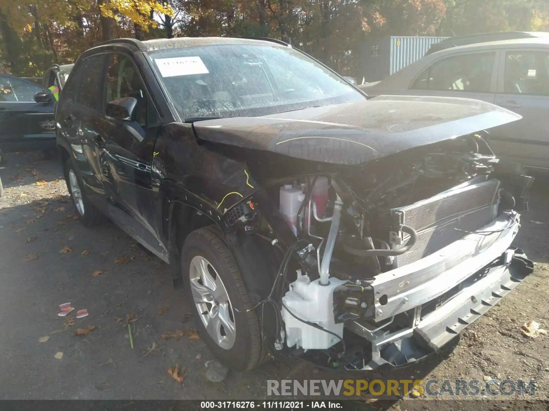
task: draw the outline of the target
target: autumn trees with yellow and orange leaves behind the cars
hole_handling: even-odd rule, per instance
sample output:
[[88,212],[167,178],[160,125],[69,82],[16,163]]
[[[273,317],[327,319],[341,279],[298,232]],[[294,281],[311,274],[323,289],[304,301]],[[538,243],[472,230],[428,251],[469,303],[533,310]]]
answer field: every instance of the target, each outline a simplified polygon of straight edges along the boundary
[[366,36],[549,30],[546,0],[0,0],[0,72],[40,76],[111,38],[273,37],[344,75]]

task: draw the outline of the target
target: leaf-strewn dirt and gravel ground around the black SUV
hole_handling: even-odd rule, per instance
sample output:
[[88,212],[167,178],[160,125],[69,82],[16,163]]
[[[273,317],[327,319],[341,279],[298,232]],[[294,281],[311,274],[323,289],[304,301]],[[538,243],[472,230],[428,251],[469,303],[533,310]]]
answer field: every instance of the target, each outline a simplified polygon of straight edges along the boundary
[[[514,244],[535,261],[533,275],[450,349],[383,374],[328,373],[305,363],[278,361],[247,373],[231,371],[215,384],[205,380],[214,358],[194,338],[190,306],[173,290],[166,265],[112,224],[83,227],[57,159],[18,153],[7,160],[0,167],[0,399],[262,399],[267,379],[491,377],[533,378],[536,398],[547,401],[549,335],[533,339],[520,333],[531,320],[549,328],[547,179],[536,180],[531,211],[523,217]],[[67,325],[57,315],[65,302],[89,315]],[[74,319],[76,310],[68,317]],[[77,329],[84,334],[75,335]],[[48,338],[40,343],[42,337]],[[185,369],[181,384],[167,373],[176,364]],[[547,403],[527,398],[514,403],[449,398],[452,402],[443,408],[548,409]],[[349,404],[402,411],[441,407],[423,399],[428,398],[358,398]]]

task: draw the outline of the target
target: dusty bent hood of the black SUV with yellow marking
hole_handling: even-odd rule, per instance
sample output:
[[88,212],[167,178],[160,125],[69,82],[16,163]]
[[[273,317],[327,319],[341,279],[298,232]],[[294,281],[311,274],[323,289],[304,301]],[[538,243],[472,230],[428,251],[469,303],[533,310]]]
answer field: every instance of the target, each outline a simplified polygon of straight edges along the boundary
[[263,117],[195,122],[198,138],[336,164],[360,164],[516,121],[484,101],[379,96]]

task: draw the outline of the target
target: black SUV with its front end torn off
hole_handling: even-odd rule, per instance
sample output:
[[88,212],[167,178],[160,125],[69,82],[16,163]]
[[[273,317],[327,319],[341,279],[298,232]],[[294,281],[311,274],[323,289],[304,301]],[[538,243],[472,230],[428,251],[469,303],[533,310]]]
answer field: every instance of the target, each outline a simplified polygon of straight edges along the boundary
[[[229,367],[271,356],[401,366],[531,272],[511,247],[532,179],[482,101],[367,96],[288,44],[117,39],[61,93],[57,143],[80,220],[169,264]],[[345,331],[344,331],[345,329]]]

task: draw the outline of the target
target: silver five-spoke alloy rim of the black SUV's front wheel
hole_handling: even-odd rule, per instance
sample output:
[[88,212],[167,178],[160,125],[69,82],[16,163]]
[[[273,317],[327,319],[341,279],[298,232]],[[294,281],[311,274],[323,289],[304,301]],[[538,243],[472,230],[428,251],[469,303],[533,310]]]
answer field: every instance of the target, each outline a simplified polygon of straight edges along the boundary
[[211,339],[230,350],[236,339],[234,313],[227,289],[217,271],[204,257],[191,260],[189,279],[194,304]]

